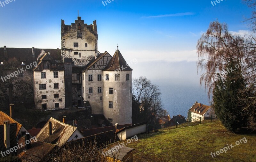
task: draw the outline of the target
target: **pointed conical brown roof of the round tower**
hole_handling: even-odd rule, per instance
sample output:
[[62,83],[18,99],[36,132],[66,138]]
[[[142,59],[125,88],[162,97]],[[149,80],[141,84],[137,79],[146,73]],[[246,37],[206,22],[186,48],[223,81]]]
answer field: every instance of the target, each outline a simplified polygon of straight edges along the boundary
[[[122,69],[123,67],[124,69]],[[124,60],[124,57],[122,56],[121,52],[119,50],[116,50],[113,57],[108,62],[107,66],[103,69],[105,71],[115,71],[115,70],[132,70],[129,66],[127,66],[126,61]]]

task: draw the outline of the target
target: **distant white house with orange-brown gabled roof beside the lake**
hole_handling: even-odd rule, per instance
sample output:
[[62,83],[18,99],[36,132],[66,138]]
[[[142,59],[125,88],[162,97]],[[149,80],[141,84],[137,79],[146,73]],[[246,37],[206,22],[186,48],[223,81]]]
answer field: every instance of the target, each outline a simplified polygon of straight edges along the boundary
[[198,103],[197,101],[188,110],[188,119],[192,122],[202,121],[211,117],[216,117],[214,108],[212,106]]

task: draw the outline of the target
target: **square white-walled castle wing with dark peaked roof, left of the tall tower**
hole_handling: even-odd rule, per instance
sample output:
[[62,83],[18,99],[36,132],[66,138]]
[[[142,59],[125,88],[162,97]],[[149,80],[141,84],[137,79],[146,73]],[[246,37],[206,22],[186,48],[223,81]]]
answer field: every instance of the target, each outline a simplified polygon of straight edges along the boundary
[[33,72],[36,108],[65,108],[64,69],[46,53],[40,58]]

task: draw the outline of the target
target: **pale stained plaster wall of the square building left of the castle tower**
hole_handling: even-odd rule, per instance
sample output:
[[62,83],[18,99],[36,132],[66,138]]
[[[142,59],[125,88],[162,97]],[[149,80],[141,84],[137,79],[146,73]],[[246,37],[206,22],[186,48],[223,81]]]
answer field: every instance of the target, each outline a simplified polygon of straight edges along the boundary
[[[41,78],[41,72],[46,73],[46,78]],[[34,101],[37,109],[42,109],[42,104],[47,104],[47,109],[55,109],[54,103],[59,103],[59,108],[65,108],[64,71],[58,71],[58,78],[53,78],[53,72],[55,71],[34,71]],[[54,89],[54,83],[59,83],[59,89]],[[40,84],[46,84],[46,90],[39,90]],[[55,99],[54,94],[59,94],[59,98]],[[47,98],[42,99],[42,95],[46,95]]]

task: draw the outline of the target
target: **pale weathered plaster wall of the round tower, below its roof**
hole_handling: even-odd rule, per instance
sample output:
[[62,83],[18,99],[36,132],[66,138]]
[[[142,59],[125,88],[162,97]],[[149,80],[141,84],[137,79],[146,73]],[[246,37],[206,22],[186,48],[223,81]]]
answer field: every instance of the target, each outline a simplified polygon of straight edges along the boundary
[[[131,124],[132,123],[132,71],[121,71],[120,81],[115,81],[115,71],[103,71],[103,76],[109,75],[109,80],[103,80],[103,114],[112,118],[115,123]],[[130,75],[130,80],[126,80],[126,74]],[[109,94],[109,88],[113,88],[113,94]],[[113,108],[108,108],[109,101],[113,101]]]

